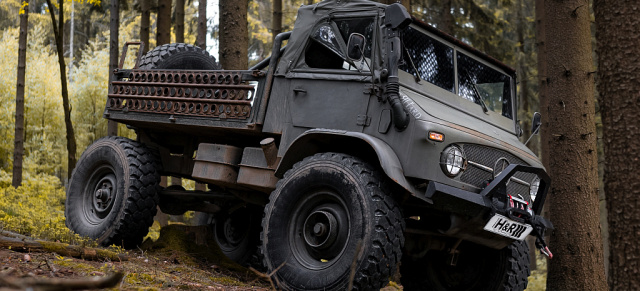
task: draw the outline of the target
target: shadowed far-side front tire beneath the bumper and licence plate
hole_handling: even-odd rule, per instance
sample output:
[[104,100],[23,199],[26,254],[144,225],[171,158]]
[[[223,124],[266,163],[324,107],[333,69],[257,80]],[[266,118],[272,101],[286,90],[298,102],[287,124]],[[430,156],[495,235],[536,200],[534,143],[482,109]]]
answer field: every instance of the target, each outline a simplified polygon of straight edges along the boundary
[[400,265],[405,290],[500,290],[521,291],[527,288],[529,248],[516,241],[502,250],[493,250],[471,243],[461,244],[456,266],[445,251],[430,251],[414,260],[403,257]]

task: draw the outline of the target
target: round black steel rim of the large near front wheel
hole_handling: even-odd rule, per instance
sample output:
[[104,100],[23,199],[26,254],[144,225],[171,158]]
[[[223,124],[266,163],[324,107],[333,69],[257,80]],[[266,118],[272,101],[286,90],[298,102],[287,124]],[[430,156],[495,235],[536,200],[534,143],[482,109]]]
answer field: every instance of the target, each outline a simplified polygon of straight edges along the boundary
[[332,189],[319,189],[305,196],[294,207],[288,225],[292,255],[306,268],[326,269],[339,260],[347,247],[350,211]]

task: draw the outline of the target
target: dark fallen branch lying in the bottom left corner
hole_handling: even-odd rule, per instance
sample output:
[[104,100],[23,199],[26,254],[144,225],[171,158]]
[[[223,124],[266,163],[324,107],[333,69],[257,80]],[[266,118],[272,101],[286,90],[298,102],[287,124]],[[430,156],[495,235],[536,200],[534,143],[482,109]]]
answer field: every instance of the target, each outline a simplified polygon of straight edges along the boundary
[[11,278],[0,277],[0,286],[13,289],[31,290],[86,290],[113,288],[123,278],[122,273],[113,273],[104,277],[87,277],[80,279],[59,279],[59,278]]

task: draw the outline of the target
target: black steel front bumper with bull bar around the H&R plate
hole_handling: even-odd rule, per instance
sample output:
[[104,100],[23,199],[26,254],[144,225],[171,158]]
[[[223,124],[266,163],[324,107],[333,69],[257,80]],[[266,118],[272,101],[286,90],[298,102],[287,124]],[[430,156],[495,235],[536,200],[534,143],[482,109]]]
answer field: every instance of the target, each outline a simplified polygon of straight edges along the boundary
[[[540,186],[531,210],[512,207],[509,203],[507,183],[518,173],[526,172],[538,175]],[[536,236],[544,244],[544,233],[553,228],[550,221],[540,216],[542,206],[549,190],[551,179],[547,173],[536,167],[512,164],[502,171],[480,193],[465,191],[442,183],[431,181],[425,192],[425,198],[433,201],[432,207],[452,214],[452,225],[443,234],[467,239],[482,245],[502,248],[513,239],[485,231],[484,225],[496,214],[514,221],[531,225]],[[454,219],[455,218],[455,219]]]

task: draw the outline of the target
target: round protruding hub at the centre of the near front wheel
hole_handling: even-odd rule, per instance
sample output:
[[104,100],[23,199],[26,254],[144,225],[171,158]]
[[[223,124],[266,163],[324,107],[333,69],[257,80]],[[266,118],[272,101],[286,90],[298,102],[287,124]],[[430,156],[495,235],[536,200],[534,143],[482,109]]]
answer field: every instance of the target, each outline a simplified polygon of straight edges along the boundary
[[338,236],[338,222],[330,212],[317,210],[304,222],[304,240],[312,248],[325,249]]

